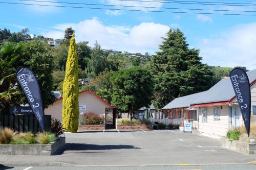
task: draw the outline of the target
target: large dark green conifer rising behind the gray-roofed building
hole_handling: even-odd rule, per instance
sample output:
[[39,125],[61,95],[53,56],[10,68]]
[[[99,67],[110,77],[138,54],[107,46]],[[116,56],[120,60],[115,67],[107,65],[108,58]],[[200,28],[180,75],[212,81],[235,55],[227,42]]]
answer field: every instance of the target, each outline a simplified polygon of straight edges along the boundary
[[152,58],[154,105],[162,108],[175,98],[210,86],[211,72],[201,63],[199,50],[189,49],[186,37],[179,30],[170,29]]

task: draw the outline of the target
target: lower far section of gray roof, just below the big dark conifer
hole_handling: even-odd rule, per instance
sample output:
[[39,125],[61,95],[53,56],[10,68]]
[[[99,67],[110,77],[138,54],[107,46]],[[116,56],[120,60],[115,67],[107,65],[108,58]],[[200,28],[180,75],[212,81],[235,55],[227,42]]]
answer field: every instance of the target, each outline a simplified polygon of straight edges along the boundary
[[189,107],[191,103],[193,103],[195,100],[200,98],[202,94],[204,94],[206,91],[185,95],[180,98],[176,98],[172,102],[168,103],[166,106],[163,107],[163,109],[173,109],[173,108],[182,108],[182,107]]

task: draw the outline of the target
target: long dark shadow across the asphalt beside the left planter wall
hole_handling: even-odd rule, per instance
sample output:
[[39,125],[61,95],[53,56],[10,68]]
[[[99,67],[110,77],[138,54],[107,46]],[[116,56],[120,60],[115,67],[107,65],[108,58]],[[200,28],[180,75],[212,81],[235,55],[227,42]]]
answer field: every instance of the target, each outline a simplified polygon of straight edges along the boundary
[[86,143],[66,143],[65,147],[55,155],[61,155],[65,151],[104,151],[104,150],[120,150],[120,149],[140,149],[134,147],[134,145],[97,145],[97,144],[86,144]]

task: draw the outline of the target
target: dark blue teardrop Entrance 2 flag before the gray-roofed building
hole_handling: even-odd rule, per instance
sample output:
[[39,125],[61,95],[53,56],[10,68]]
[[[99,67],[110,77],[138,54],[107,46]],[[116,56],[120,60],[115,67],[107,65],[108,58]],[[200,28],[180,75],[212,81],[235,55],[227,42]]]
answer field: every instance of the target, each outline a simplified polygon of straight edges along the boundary
[[236,94],[240,112],[244,119],[244,125],[250,136],[250,119],[251,119],[251,89],[250,82],[246,72],[241,68],[234,68],[230,74],[234,93]]

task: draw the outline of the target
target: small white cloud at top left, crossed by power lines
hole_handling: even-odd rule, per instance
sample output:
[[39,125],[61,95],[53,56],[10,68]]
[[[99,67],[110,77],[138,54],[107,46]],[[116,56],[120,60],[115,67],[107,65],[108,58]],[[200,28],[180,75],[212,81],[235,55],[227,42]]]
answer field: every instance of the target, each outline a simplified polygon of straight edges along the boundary
[[43,13],[54,13],[60,10],[60,7],[51,7],[52,6],[60,6],[56,0],[52,0],[51,2],[23,2],[24,4],[33,4],[33,5],[26,5],[32,13],[43,14]]

